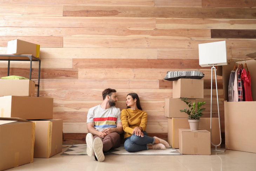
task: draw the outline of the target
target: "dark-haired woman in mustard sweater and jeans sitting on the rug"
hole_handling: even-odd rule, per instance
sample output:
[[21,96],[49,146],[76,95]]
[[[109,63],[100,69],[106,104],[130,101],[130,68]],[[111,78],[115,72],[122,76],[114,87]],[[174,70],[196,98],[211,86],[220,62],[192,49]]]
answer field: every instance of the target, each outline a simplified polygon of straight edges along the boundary
[[163,139],[147,136],[145,130],[148,115],[141,108],[139,96],[136,93],[128,94],[126,104],[127,109],[123,109],[121,113],[124,148],[128,152],[169,148],[169,144]]

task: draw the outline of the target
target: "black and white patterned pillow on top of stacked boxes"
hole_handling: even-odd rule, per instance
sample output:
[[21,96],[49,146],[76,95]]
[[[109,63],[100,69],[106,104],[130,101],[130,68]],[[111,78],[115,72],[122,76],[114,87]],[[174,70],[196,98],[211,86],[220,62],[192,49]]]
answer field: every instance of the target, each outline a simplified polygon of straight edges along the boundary
[[163,79],[175,81],[180,78],[201,79],[203,77],[204,74],[201,71],[168,71]]

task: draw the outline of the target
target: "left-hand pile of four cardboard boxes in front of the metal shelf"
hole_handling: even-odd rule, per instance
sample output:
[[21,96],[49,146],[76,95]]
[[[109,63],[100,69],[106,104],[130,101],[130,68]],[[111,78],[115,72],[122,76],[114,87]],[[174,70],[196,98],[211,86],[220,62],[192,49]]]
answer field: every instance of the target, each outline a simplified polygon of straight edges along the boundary
[[0,171],[62,151],[53,98],[34,97],[35,82],[0,79]]

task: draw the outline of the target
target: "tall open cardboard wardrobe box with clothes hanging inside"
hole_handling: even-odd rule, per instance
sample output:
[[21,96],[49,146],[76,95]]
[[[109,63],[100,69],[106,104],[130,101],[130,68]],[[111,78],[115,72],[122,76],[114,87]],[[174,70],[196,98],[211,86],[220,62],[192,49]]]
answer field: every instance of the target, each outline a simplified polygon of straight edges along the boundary
[[[227,102],[228,82],[231,70],[235,63],[230,62],[226,66],[218,66],[217,75],[222,76],[224,94],[225,117],[225,148],[256,153],[256,61],[247,60],[247,67],[251,75],[252,102]],[[244,65],[244,61],[242,62]]]

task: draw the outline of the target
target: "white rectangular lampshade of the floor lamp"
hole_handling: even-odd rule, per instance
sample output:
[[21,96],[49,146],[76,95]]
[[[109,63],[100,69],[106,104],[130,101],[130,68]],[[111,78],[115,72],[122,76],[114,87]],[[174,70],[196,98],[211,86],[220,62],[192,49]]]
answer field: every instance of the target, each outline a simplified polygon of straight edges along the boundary
[[198,44],[199,65],[209,67],[211,65],[227,65],[226,41]]

